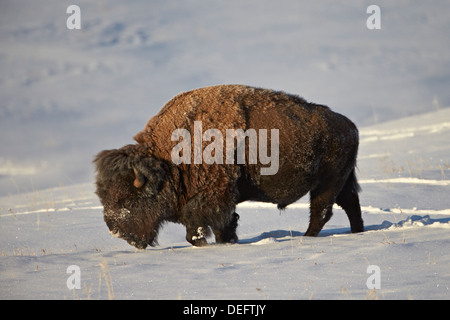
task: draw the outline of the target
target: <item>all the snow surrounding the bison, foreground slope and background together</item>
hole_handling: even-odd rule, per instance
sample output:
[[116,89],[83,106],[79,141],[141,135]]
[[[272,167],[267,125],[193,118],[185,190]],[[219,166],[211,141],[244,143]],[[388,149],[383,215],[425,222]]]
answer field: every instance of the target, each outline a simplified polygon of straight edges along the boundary
[[[77,1],[82,30],[66,28],[70,4],[0,4],[0,299],[450,298],[448,2],[380,1],[375,31],[369,1]],[[93,155],[218,83],[296,93],[359,125],[365,232],[335,207],[304,237],[305,197],[239,204],[233,245],[192,247],[171,223],[141,251],[109,234]]]

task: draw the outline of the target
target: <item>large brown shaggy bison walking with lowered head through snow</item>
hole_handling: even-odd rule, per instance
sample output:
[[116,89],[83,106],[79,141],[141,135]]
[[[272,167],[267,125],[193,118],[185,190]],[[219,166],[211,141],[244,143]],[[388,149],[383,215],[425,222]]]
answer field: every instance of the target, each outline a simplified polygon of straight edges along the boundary
[[211,86],[172,98],[134,139],[100,152],[94,163],[111,234],[138,249],[157,245],[168,221],[183,224],[194,246],[207,244],[211,231],[216,243],[235,243],[238,203],[284,209],[308,192],[305,236],[318,235],[334,203],[351,232],[364,229],[358,130],[326,106],[280,91]]

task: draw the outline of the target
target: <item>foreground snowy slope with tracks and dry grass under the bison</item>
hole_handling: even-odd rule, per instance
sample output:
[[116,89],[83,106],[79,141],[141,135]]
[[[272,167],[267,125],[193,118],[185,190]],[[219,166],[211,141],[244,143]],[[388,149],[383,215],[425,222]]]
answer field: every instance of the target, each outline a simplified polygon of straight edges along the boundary
[[195,248],[168,224],[159,247],[136,251],[109,235],[92,184],[3,197],[0,298],[449,299],[449,134],[449,109],[361,129],[361,234],[336,208],[303,237],[307,199],[282,213],[246,202],[238,244]]

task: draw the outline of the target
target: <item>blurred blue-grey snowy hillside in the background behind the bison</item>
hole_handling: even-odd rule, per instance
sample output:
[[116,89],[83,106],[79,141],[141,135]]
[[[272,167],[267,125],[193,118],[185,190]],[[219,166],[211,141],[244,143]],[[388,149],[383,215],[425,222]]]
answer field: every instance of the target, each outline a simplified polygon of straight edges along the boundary
[[370,125],[450,106],[447,0],[0,3],[0,195],[90,181],[181,91],[285,90]]

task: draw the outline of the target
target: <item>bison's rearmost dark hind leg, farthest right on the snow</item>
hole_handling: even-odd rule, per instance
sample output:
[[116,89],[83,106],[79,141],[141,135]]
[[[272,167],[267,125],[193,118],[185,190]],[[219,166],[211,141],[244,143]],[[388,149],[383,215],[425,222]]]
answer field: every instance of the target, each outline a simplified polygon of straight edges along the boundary
[[360,187],[356,180],[355,170],[353,170],[336,198],[336,203],[345,210],[345,213],[350,220],[352,233],[364,231],[364,223],[361,218],[361,206],[358,197],[359,191]]

